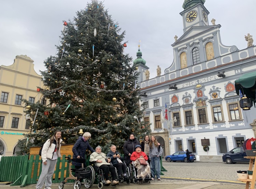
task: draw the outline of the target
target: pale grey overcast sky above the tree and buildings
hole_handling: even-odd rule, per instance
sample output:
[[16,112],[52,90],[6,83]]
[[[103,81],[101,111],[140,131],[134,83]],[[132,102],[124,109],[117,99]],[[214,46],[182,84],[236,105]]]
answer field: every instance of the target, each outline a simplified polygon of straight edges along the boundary
[[[2,0],[0,7],[0,65],[11,65],[17,55],[34,60],[34,69],[45,70],[43,61],[56,53],[62,20],[73,20],[87,0]],[[112,19],[126,31],[125,53],[135,60],[138,43],[142,58],[150,67],[150,78],[159,65],[164,70],[173,62],[174,36],[183,34],[180,12],[184,0],[105,0]],[[226,46],[247,47],[244,35],[253,35],[256,45],[255,0],[206,0],[209,22],[216,19],[222,27],[221,40]],[[212,25],[210,22],[209,25]]]

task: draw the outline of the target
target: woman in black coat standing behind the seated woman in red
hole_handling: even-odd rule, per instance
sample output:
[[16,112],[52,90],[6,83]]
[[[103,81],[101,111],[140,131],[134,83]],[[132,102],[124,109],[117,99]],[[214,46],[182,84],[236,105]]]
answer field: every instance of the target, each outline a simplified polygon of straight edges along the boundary
[[125,141],[123,150],[124,150],[124,162],[126,164],[131,163],[130,157],[131,154],[135,151],[135,146],[140,145],[140,142],[134,137],[133,133],[130,134],[130,137]]

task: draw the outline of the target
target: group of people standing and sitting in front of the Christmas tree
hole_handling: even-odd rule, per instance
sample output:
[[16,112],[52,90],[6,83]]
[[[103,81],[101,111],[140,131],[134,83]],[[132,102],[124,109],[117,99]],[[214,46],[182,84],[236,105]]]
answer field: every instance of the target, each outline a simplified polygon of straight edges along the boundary
[[[148,135],[140,143],[134,134],[131,134],[123,146],[124,158],[116,151],[116,146],[112,145],[108,154],[101,152],[101,147],[97,146],[95,150],[90,146],[89,139],[91,134],[85,132],[75,142],[72,152],[73,159],[85,158],[86,149],[89,149],[92,154],[90,155],[90,162],[95,162],[96,166],[103,170],[105,184],[111,184],[109,179],[109,172],[112,175],[112,185],[117,185],[119,179],[127,179],[126,165],[133,162],[137,168],[137,178],[145,179],[151,175],[152,180],[161,180],[160,178],[160,157],[162,155],[162,148],[157,142],[155,136]],[[57,130],[54,135],[48,139],[42,148],[42,172],[38,179],[36,189],[41,189],[45,184],[45,189],[51,189],[52,176],[57,163],[57,158],[60,155],[61,146],[61,131]],[[140,160],[145,160],[145,164],[141,164]],[[111,162],[111,163],[110,163]],[[75,169],[82,168],[82,163],[72,161]],[[85,165],[83,165],[84,167]],[[116,177],[115,168],[118,172],[118,180]]]

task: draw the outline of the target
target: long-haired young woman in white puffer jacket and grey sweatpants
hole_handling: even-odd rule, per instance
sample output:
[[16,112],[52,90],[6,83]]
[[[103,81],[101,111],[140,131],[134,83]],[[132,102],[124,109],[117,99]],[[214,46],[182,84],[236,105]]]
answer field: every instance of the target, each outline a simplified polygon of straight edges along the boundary
[[57,159],[58,157],[61,157],[61,141],[61,131],[57,130],[54,132],[54,135],[44,143],[42,149],[42,172],[38,179],[37,189],[41,189],[43,185],[45,186],[45,189],[51,189],[52,176]]

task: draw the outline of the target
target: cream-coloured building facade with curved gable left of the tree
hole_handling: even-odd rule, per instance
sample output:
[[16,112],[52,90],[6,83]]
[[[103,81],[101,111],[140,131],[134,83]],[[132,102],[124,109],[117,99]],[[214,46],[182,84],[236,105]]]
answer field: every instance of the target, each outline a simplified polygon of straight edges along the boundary
[[33,60],[16,56],[10,66],[0,66],[0,151],[4,156],[16,155],[18,139],[26,139],[25,104],[20,99],[40,100],[37,87],[43,87],[42,76],[34,70]]

